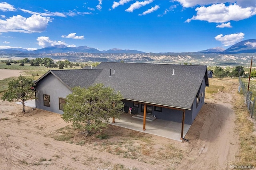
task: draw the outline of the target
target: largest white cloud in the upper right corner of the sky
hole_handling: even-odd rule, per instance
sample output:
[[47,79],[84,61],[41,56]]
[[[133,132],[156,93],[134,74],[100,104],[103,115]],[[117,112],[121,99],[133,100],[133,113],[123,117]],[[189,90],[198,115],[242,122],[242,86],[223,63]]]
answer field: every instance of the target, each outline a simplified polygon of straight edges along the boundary
[[230,20],[244,20],[256,15],[256,8],[242,8],[237,4],[230,4],[229,6],[226,6],[225,4],[213,4],[208,7],[201,6],[196,8],[196,11],[196,16],[186,20],[186,22],[190,22],[191,20],[202,20],[223,23]]

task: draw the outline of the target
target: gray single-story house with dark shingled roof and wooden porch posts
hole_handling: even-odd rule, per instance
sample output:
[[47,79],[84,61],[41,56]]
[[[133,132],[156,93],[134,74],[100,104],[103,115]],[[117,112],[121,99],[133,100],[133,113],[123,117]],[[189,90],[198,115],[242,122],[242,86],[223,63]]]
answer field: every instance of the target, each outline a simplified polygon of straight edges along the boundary
[[[124,110],[191,125],[204,105],[208,71],[201,65],[102,62],[95,69],[50,70],[36,83],[36,107],[63,114],[72,87],[104,83],[120,91]],[[146,108],[146,109],[145,109]],[[183,135],[181,135],[183,136]]]

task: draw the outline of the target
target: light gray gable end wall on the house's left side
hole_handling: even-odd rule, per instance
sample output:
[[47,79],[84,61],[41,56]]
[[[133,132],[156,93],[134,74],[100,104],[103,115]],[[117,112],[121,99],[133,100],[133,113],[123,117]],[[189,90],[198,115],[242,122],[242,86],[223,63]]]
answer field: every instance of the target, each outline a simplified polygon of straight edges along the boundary
[[[60,82],[54,75],[49,74],[46,79],[42,79],[36,86],[36,107],[55,113],[63,114],[59,110],[59,97],[66,98],[72,91]],[[50,107],[44,106],[44,94],[50,95]]]

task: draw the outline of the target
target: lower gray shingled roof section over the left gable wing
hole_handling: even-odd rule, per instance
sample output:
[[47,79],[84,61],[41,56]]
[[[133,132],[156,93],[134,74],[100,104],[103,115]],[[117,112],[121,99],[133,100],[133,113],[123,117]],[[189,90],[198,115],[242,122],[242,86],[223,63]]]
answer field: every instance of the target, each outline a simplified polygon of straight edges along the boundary
[[101,72],[102,69],[50,70],[36,80],[35,83],[38,83],[42,78],[46,77],[46,75],[52,73],[70,89],[76,86],[87,88],[93,85]]

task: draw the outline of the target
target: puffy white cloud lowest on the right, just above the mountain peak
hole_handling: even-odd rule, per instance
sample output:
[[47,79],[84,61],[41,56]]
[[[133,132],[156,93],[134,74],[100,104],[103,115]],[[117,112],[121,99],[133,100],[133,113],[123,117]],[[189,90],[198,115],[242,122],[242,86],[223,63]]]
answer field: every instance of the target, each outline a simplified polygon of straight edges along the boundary
[[223,36],[223,34],[220,34],[214,38],[215,40],[220,41],[223,46],[226,47],[242,41],[244,39],[244,33],[240,32],[238,34],[228,34],[225,36]]

